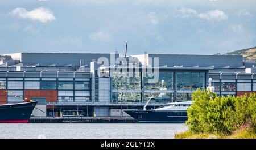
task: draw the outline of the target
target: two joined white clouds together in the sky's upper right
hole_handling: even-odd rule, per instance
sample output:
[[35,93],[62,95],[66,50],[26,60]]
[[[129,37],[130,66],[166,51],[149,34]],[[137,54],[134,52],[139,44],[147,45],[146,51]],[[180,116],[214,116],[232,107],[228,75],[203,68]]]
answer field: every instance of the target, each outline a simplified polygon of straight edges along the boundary
[[228,19],[228,16],[221,10],[209,10],[204,13],[198,13],[196,10],[191,8],[181,8],[177,11],[180,18],[190,18],[197,17],[207,20],[225,20]]

